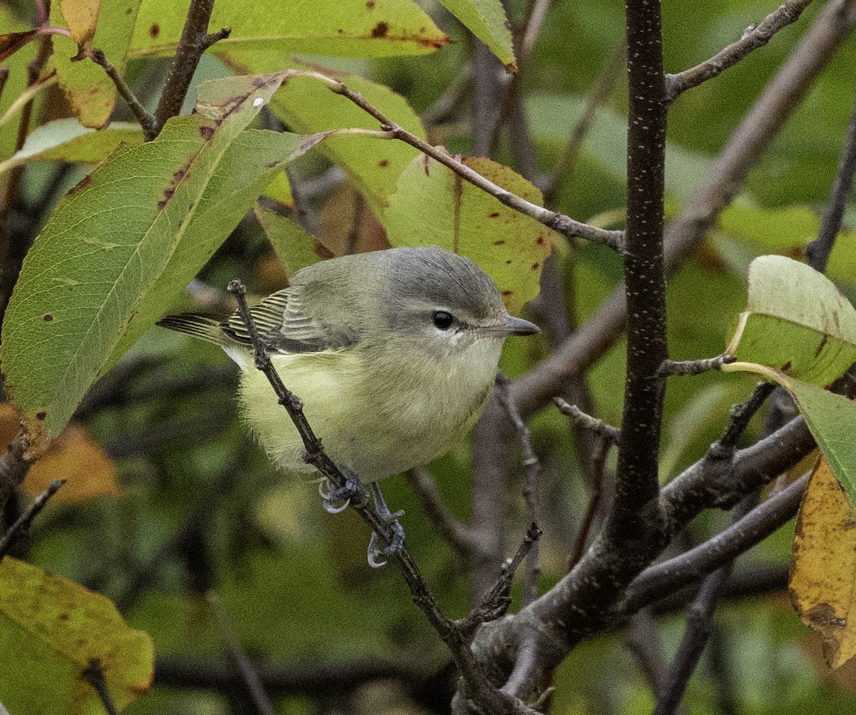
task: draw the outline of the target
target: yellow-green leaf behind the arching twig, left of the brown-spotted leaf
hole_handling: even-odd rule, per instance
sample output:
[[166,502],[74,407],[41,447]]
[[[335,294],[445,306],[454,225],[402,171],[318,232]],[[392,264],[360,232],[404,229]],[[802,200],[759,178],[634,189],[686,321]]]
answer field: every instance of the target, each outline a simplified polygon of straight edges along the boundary
[[[241,74],[269,72],[294,64],[290,58],[263,52],[229,53],[218,57]],[[425,129],[419,116],[400,94],[362,77],[335,76],[354,92],[360,92],[366,101],[393,122],[425,139]],[[288,80],[274,95],[270,109],[289,128],[302,134],[346,127],[378,128],[377,119],[347,98],[330,92],[324,83],[309,77]],[[330,137],[324,141],[321,151],[345,170],[377,217],[386,210],[389,195],[395,191],[401,172],[420,153],[403,141],[381,141],[359,135]]]

